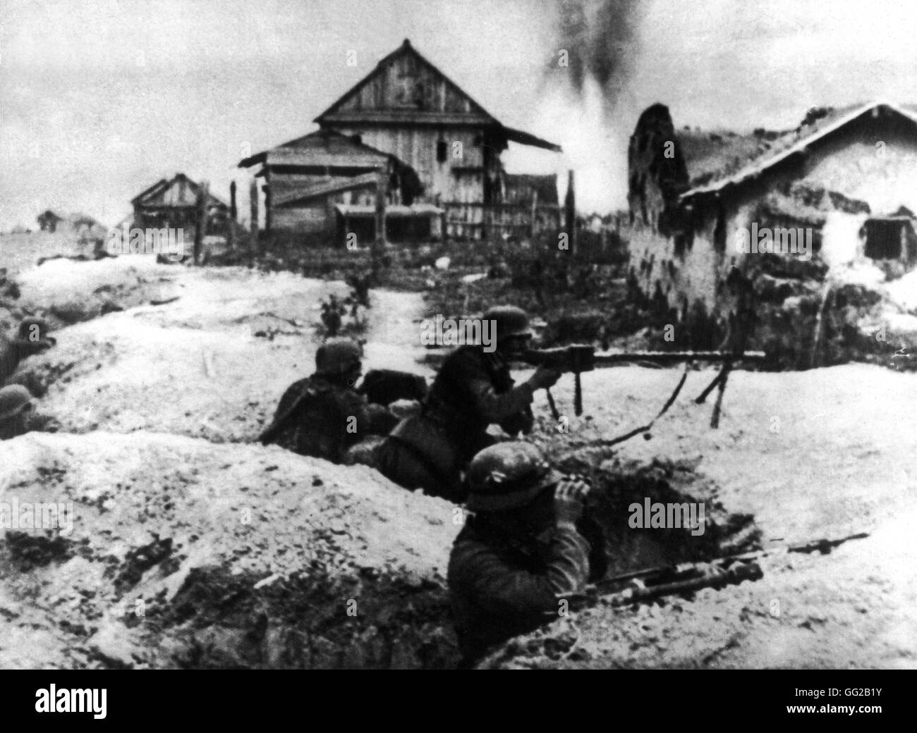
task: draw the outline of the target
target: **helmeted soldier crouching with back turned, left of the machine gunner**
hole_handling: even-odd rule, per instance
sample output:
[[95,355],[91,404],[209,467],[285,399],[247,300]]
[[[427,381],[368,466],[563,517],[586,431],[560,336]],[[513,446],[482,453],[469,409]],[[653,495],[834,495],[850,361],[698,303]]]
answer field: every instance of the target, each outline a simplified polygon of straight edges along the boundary
[[351,446],[389,432],[396,422],[392,414],[370,405],[355,388],[362,356],[362,347],[348,338],[319,346],[315,374],[287,388],[260,442],[341,463]]

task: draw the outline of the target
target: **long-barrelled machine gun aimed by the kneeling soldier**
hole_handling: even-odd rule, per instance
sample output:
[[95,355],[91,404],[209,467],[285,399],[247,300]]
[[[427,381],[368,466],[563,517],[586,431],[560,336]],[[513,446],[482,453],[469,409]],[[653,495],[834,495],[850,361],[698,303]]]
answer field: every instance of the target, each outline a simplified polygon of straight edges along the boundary
[[[582,414],[582,385],[580,374],[602,367],[619,367],[624,364],[645,363],[655,365],[672,365],[680,362],[710,361],[732,363],[735,361],[760,362],[765,359],[763,351],[746,351],[735,354],[729,351],[631,351],[631,352],[597,352],[590,345],[560,346],[553,349],[533,349],[525,353],[522,360],[533,367],[548,367],[562,372],[573,372],[574,410],[577,416]],[[551,410],[556,412],[554,399],[548,392]]]

